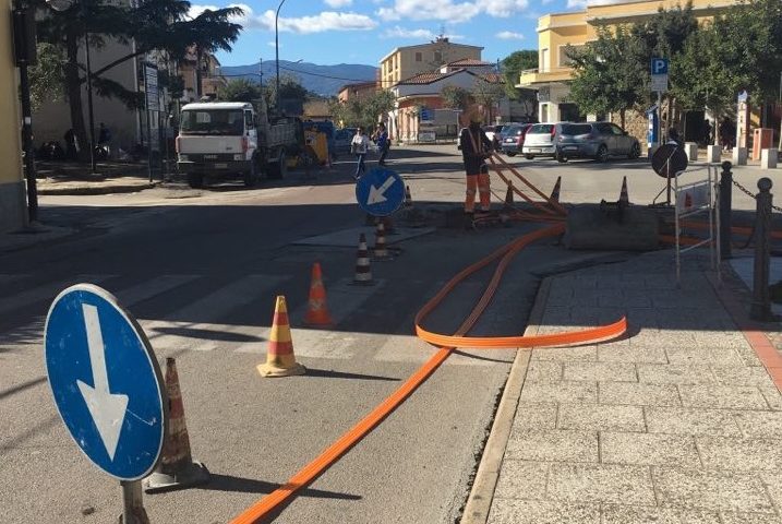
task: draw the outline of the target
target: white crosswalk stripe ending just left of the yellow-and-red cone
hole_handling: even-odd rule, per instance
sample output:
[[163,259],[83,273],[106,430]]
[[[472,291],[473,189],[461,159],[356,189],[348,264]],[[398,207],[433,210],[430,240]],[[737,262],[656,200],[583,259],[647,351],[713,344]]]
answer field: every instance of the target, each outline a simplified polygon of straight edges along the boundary
[[[191,350],[210,352],[226,345],[222,338],[256,336],[253,332],[260,331],[260,327],[217,322],[231,310],[257,300],[286,279],[280,275],[248,275],[171,312],[163,320],[142,320],[141,325],[156,349],[187,346]],[[205,338],[209,333],[220,340]]]

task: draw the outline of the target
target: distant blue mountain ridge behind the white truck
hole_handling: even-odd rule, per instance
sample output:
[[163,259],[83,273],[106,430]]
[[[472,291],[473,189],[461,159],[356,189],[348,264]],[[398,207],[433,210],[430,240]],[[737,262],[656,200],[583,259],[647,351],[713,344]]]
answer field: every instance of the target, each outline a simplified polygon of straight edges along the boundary
[[[258,80],[258,63],[251,66],[224,66],[220,71],[231,78],[246,78]],[[264,61],[261,66],[263,82],[274,82],[275,61]],[[341,86],[356,82],[375,80],[377,68],[357,63],[339,63],[336,66],[318,66],[308,62],[279,61],[279,75],[290,74],[299,79],[299,83],[313,93],[323,96],[335,96]]]

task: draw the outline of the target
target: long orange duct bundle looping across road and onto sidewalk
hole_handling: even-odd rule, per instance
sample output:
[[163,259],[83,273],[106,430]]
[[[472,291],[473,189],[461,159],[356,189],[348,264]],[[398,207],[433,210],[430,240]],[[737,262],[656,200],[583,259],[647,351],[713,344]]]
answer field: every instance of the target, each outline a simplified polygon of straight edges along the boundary
[[[455,277],[453,277],[437,295],[429,300],[423,308],[416,315],[416,332],[423,340],[444,337],[447,340],[447,344],[443,344],[437,353],[435,353],[421,368],[418,369],[405,383],[396,390],[389,397],[383,401],[372,413],[366,415],[361,421],[349,429],[342,437],[336,442],[326,448],[314,461],[304,466],[299,473],[293,475],[281,488],[276,489],[265,498],[261,499],[254,505],[246,509],[243,513],[231,521],[231,524],[253,524],[258,522],[261,519],[273,515],[275,511],[281,509],[287,500],[289,500],[296,491],[309,486],[317,477],[320,477],[332,464],[334,464],[342,454],[349,451],[356,443],[363,439],[372,429],[374,429],[385,417],[390,415],[405,400],[412,394],[416,389],[421,385],[438,367],[445,361],[450,355],[454,347],[484,347],[494,348],[500,347],[497,344],[507,343],[512,346],[502,347],[532,347],[532,346],[562,346],[570,345],[576,343],[586,342],[598,342],[606,338],[613,338],[624,334],[627,329],[626,319],[622,319],[618,322],[592,330],[586,330],[580,332],[569,332],[561,334],[541,335],[534,337],[526,336],[514,336],[514,337],[465,337],[464,335],[469,332],[470,329],[476,324],[478,319],[481,317],[485,308],[491,302],[494,293],[496,291],[500,281],[502,278],[505,269],[507,267],[510,260],[521,249],[528,246],[530,242],[540,240],[542,238],[557,236],[564,233],[565,226],[562,224],[550,226],[543,229],[525,235],[524,237],[497,249],[484,259],[476,262],[474,264],[460,271]],[[454,336],[438,335],[431,333],[421,327],[421,321],[431,313],[434,308],[466,277],[472,273],[485,267],[493,261],[500,259],[497,267],[494,270],[494,274],[479,299],[476,307],[472,309],[470,315],[462,322],[461,326],[457,330]],[[423,336],[422,336],[423,335]],[[428,341],[429,342],[429,341]]]

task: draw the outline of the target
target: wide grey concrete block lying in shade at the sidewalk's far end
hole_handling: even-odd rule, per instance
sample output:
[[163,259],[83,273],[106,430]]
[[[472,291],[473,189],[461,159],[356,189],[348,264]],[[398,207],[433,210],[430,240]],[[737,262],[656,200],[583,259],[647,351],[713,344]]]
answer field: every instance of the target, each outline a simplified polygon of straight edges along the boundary
[[630,206],[622,221],[615,212],[605,213],[599,205],[585,204],[567,215],[567,249],[605,249],[650,251],[659,247],[660,219],[653,210]]

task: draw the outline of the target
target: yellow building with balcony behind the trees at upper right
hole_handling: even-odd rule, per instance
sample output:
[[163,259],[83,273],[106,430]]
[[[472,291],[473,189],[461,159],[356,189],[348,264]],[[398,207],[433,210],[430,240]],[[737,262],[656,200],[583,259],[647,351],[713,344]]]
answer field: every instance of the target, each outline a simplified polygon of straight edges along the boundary
[[[567,46],[579,47],[595,40],[601,25],[634,24],[654,15],[660,8],[684,5],[685,0],[625,0],[601,5],[590,1],[584,11],[553,13],[538,20],[538,69],[524,71],[518,87],[538,91],[538,118],[541,122],[578,119],[578,108],[568,104],[568,81],[573,75]],[[693,0],[696,17],[713,16],[737,0]]]

